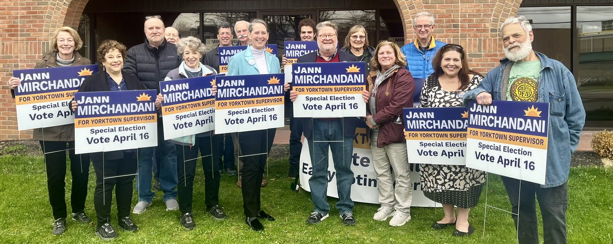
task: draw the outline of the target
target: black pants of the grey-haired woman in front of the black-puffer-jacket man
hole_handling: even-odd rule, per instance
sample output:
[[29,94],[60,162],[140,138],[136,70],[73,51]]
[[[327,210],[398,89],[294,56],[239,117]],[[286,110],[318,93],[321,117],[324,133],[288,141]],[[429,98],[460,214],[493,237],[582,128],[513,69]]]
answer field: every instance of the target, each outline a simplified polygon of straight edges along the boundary
[[192,212],[194,176],[196,175],[199,150],[200,155],[202,155],[202,169],[204,170],[204,203],[207,205],[207,210],[219,204],[219,180],[221,175],[217,172],[219,164],[216,163],[219,162],[219,157],[221,156],[218,143],[219,137],[223,138],[223,135],[196,137],[196,143],[191,147],[177,145],[177,172],[179,179],[177,186],[179,210],[181,210],[181,213]]

